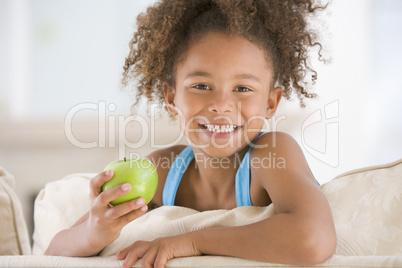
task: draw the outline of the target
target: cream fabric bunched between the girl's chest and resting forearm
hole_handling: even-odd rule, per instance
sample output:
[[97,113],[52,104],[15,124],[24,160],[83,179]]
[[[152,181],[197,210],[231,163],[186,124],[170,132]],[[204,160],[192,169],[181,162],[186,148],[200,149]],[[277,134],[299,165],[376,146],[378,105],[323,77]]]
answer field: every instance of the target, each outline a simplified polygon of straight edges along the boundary
[[110,256],[137,240],[185,234],[219,226],[239,226],[261,221],[275,214],[274,207],[239,207],[232,210],[198,212],[183,207],[160,207],[126,225],[121,235],[107,246],[101,256]]

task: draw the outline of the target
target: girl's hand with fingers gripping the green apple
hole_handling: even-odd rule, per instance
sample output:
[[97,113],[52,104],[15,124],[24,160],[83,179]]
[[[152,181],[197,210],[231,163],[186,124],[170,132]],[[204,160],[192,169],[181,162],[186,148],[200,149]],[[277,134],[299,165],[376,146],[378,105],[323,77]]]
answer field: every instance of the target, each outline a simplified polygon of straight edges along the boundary
[[102,185],[112,177],[113,171],[107,170],[90,181],[91,208],[86,224],[89,242],[96,247],[112,243],[119,237],[126,224],[143,215],[148,209],[143,198],[117,206],[110,205],[110,201],[131,190],[131,185],[126,183],[102,192]]

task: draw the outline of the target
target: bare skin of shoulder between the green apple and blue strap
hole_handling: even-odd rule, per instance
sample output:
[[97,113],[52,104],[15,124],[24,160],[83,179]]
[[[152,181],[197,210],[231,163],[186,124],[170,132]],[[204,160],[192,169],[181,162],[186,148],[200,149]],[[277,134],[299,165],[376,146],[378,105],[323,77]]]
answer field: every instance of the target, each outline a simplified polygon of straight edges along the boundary
[[174,145],[168,148],[155,150],[145,157],[154,164],[158,172],[158,188],[156,189],[154,198],[148,204],[149,209],[162,206],[163,187],[165,185],[169,169],[176,157],[182,150],[184,150],[184,148],[186,148],[186,145]]

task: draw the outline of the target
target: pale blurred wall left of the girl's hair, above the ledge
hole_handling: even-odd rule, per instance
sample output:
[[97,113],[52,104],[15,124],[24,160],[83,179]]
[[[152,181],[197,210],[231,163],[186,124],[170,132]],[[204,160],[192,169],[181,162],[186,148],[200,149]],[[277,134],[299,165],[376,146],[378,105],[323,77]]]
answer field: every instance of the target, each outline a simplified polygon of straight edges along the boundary
[[85,101],[126,109],[119,78],[135,17],[150,2],[2,1],[7,118],[59,119]]

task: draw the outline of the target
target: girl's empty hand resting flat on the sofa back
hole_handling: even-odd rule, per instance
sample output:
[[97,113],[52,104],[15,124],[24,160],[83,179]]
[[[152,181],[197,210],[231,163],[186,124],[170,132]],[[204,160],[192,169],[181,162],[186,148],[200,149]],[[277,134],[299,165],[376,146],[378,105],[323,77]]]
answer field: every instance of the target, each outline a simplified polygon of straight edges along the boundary
[[125,259],[123,267],[131,267],[141,258],[142,267],[162,268],[168,260],[176,257],[199,256],[201,251],[190,238],[191,233],[159,238],[154,241],[137,241],[116,255]]

